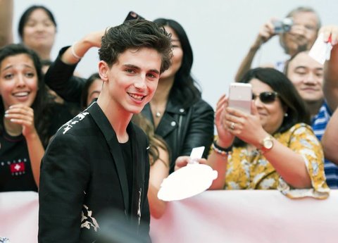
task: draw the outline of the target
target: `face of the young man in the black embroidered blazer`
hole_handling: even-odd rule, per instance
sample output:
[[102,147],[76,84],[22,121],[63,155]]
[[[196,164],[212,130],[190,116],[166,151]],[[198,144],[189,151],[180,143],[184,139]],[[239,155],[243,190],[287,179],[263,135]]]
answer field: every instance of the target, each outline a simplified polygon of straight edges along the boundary
[[[161,70],[161,54],[155,49],[127,49],[111,68],[100,61],[99,70],[111,108],[139,113],[154,96]],[[108,90],[106,90],[108,89]],[[100,98],[101,98],[100,94]]]

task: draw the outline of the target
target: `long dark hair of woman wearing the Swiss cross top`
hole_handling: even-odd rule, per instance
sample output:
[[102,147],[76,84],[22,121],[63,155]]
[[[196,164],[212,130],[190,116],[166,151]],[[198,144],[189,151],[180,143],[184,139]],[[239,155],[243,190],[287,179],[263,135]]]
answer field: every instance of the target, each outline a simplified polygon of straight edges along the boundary
[[[49,142],[49,125],[51,124],[51,113],[54,103],[53,97],[47,92],[46,85],[44,84],[44,77],[42,74],[42,65],[39,56],[35,51],[28,49],[23,44],[9,44],[0,49],[0,65],[2,61],[8,56],[17,56],[20,54],[26,54],[32,59],[35,70],[37,72],[37,96],[32,104],[35,116],[35,128],[42,141],[44,147]],[[0,99],[0,118],[4,119],[4,103]],[[0,123],[0,134],[4,131],[2,123]]]

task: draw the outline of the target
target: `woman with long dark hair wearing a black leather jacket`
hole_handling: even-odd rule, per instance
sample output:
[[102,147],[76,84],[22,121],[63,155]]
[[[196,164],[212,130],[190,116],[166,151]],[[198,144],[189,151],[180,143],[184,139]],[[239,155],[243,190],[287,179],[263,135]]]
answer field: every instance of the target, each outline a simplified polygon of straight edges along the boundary
[[[142,113],[154,124],[171,153],[170,172],[178,156],[189,155],[194,147],[210,147],[213,141],[213,108],[201,99],[192,77],[193,54],[187,33],[175,20],[158,18],[173,44],[172,65],[160,77],[156,93]],[[204,158],[208,149],[204,152]]]

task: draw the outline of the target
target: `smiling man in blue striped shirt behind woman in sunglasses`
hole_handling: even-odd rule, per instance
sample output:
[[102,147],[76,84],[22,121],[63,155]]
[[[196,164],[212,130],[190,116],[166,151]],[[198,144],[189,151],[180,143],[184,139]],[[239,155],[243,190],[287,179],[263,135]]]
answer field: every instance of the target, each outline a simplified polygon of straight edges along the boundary
[[[319,140],[322,139],[332,111],[337,106],[337,98],[325,100],[323,64],[308,56],[308,51],[301,51],[290,58],[285,74],[305,101],[311,114],[311,127],[315,136]],[[333,92],[334,89],[330,93],[333,94]],[[338,166],[325,158],[324,168],[327,185],[332,189],[337,189]]]

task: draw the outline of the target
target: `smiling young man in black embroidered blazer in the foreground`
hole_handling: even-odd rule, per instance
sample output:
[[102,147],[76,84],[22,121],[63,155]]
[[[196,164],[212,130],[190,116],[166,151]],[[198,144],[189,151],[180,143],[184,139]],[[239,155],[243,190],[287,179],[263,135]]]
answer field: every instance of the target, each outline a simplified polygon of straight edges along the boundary
[[170,35],[150,21],[106,31],[101,94],[58,130],[42,159],[39,242],[95,242],[108,210],[125,216],[130,234],[149,237],[149,145],[130,120],[154,95],[171,54]]

